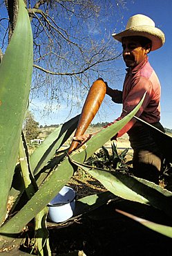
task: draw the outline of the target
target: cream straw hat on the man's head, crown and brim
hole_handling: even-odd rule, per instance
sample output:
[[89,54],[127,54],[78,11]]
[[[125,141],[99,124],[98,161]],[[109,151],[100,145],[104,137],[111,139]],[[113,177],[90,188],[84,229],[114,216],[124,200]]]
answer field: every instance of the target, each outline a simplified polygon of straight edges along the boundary
[[162,30],[155,28],[154,21],[145,15],[134,15],[128,19],[126,29],[118,34],[113,34],[113,38],[122,42],[122,37],[142,36],[147,37],[152,42],[151,51],[160,48],[165,42]]

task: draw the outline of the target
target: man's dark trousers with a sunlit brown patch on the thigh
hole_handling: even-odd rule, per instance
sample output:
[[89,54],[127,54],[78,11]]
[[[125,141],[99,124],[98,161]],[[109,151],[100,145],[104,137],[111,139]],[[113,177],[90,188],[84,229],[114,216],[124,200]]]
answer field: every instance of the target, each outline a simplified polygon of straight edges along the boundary
[[[157,129],[164,131],[160,122],[153,125]],[[139,178],[159,184],[163,156],[153,134],[146,126],[140,125],[128,131],[128,136],[133,148],[133,174]]]

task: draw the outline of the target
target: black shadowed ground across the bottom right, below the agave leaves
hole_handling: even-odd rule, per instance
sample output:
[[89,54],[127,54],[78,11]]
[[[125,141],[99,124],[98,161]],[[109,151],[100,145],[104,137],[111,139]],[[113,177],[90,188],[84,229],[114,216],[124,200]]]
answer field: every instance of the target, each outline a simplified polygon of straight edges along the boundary
[[172,219],[151,206],[121,201],[84,214],[70,226],[49,228],[52,256],[83,250],[86,256],[171,256],[172,240],[115,212],[171,226]]

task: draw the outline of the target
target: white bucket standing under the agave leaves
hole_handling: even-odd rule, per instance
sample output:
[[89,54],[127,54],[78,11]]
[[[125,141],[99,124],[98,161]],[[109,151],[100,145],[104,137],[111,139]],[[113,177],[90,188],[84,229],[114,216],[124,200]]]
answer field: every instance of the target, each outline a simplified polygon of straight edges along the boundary
[[48,203],[48,219],[63,222],[73,217],[76,193],[73,188],[64,186],[50,203]]

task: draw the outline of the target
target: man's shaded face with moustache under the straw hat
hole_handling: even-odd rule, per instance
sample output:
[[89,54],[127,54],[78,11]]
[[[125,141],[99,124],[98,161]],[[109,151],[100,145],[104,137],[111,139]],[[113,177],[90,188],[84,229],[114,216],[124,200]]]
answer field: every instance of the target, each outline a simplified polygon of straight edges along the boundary
[[123,59],[128,67],[137,66],[146,57],[149,51],[143,48],[137,37],[124,37],[122,40]]

